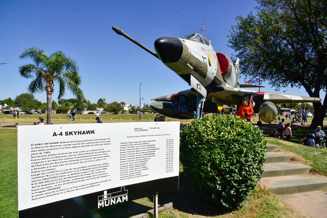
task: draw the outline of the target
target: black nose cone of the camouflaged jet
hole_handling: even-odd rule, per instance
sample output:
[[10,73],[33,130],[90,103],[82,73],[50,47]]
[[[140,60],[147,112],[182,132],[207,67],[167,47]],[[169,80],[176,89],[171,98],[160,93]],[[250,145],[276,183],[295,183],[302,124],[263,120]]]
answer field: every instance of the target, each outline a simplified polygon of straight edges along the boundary
[[183,53],[183,45],[176,37],[161,37],[154,42],[154,48],[163,63],[177,62]]

